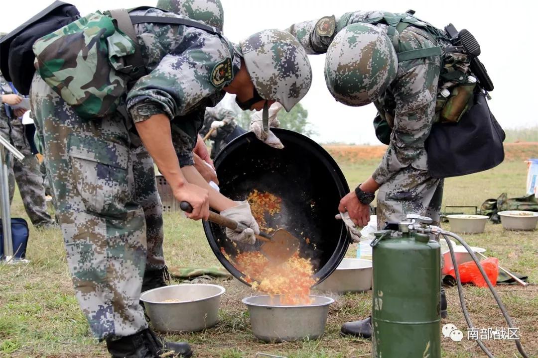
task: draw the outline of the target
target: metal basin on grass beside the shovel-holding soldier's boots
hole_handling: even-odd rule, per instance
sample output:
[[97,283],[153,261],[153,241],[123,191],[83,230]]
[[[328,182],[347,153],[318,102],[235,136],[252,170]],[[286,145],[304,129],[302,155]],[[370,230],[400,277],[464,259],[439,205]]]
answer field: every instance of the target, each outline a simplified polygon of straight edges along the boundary
[[224,287],[187,283],[159,287],[140,295],[155,330],[197,332],[217,323]]

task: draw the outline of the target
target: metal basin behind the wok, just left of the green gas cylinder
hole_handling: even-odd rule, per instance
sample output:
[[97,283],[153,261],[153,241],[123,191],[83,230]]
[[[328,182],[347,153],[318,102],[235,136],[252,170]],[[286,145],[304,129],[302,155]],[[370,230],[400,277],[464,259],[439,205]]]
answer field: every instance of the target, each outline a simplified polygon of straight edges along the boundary
[[325,281],[314,288],[322,292],[363,292],[372,288],[372,261],[345,258]]

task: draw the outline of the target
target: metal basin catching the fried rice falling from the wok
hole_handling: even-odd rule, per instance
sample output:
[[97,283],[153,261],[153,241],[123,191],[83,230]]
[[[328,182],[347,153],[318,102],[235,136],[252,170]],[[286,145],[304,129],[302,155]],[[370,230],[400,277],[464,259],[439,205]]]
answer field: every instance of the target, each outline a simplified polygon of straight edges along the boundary
[[243,299],[248,306],[254,335],[265,342],[289,342],[299,339],[317,339],[325,331],[330,297],[310,295],[312,303],[282,305],[280,297],[252,296]]

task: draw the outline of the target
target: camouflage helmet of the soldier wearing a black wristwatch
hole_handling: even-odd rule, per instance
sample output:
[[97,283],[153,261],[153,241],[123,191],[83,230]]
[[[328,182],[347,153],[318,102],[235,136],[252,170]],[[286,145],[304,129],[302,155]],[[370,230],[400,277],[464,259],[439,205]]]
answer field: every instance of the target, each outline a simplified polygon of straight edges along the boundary
[[398,56],[381,27],[351,24],[327,49],[325,83],[332,97],[348,106],[378,99],[396,78]]

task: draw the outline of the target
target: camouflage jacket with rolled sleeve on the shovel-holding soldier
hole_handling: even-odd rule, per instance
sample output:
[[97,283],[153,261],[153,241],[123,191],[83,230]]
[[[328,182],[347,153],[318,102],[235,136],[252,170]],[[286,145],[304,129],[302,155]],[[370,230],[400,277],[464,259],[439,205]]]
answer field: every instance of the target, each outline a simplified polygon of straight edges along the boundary
[[[182,17],[158,9],[132,15]],[[173,143],[180,160],[188,157],[202,126],[205,108],[215,106],[240,68],[230,42],[216,34],[183,25],[137,24],[147,75],[127,95],[134,123],[155,114],[172,121]]]

